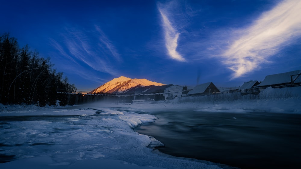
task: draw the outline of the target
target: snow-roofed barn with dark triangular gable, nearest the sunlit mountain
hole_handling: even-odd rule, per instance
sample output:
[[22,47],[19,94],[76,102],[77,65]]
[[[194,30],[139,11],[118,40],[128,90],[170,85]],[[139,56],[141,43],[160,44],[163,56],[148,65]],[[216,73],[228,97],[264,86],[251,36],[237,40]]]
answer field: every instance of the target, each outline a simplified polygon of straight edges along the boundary
[[220,91],[212,82],[208,82],[195,86],[187,95],[209,95],[214,93],[220,93]]

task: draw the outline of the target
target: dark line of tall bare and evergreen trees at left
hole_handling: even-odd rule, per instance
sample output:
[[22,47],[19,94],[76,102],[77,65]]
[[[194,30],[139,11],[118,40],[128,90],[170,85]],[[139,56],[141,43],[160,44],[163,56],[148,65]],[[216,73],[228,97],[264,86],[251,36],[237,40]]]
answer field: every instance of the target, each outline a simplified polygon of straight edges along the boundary
[[0,35],[0,103],[45,106],[59,100],[63,106],[74,104],[75,98],[57,92],[74,93],[75,85],[52,67],[49,57],[40,57],[28,45],[19,48],[8,33]]

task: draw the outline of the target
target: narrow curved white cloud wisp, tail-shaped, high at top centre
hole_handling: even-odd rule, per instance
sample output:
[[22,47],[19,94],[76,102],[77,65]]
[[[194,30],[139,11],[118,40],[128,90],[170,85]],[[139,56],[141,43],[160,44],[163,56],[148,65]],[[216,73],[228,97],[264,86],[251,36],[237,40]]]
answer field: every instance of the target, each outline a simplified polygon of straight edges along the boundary
[[180,33],[172,26],[167,14],[168,11],[158,5],[159,12],[162,17],[162,27],[164,29],[165,46],[168,51],[168,55],[175,60],[185,62],[185,58],[179,54],[176,49],[178,47],[178,38]]

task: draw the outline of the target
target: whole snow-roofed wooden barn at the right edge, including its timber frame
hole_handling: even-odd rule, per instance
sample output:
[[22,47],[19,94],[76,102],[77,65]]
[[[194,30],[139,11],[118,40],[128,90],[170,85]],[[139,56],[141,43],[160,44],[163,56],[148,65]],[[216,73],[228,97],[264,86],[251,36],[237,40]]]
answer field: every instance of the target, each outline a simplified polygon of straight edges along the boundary
[[265,79],[257,85],[258,87],[277,87],[282,85],[293,85],[301,83],[301,70],[267,75]]

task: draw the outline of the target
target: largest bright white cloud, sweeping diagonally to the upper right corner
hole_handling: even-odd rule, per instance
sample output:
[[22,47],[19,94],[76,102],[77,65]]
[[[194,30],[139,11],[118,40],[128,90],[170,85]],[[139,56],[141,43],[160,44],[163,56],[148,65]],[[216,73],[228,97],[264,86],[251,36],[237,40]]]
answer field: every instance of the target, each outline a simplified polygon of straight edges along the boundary
[[[269,58],[301,35],[301,1],[283,1],[263,13],[251,26],[236,30],[235,38],[222,54],[223,63],[240,77],[269,63]],[[231,41],[231,40],[230,40]]]

